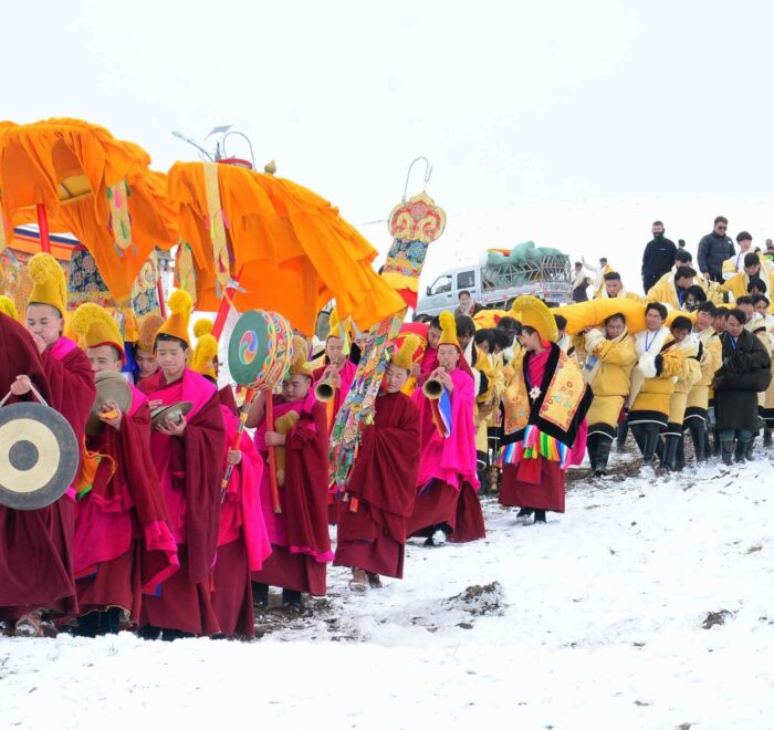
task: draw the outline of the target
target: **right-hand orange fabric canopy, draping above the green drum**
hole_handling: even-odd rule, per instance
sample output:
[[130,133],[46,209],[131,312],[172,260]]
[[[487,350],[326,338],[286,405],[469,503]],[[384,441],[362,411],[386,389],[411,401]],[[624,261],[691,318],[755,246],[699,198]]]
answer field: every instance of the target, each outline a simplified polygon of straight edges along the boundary
[[[180,240],[190,246],[195,286],[186,281],[186,243],[176,273],[195,289],[197,309],[219,306],[215,226],[226,229],[229,274],[239,278],[239,311],[275,310],[303,332],[331,299],[342,319],[360,330],[399,312],[402,299],[373,269],[376,250],[327,200],[290,180],[230,165],[217,165],[221,211],[212,207],[202,163],[177,163],[168,194],[179,206]],[[211,170],[210,170],[211,171]]]

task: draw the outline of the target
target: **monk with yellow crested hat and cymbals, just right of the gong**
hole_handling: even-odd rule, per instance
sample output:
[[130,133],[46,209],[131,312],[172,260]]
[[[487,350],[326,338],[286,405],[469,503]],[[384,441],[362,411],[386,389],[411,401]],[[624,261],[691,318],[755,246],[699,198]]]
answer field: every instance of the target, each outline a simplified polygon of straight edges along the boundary
[[[124,341],[115,320],[82,304],[73,330],[95,374],[121,373]],[[102,432],[86,436],[75,511],[75,578],[82,636],[116,634],[124,617],[138,625],[144,593],[155,593],[178,570],[177,544],[150,456],[147,398],[128,386],[122,411],[106,400],[96,416]]]

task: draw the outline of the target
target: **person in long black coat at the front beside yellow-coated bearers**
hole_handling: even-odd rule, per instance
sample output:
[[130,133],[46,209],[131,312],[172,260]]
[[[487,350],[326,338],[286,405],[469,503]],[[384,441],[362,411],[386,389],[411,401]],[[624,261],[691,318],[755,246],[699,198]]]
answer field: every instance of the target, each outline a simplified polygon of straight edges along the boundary
[[[757,431],[757,394],[772,380],[771,359],[763,343],[744,328],[746,314],[731,310],[720,336],[723,365],[715,374],[715,409],[723,463],[744,461]],[[734,452],[734,439],[736,449]]]

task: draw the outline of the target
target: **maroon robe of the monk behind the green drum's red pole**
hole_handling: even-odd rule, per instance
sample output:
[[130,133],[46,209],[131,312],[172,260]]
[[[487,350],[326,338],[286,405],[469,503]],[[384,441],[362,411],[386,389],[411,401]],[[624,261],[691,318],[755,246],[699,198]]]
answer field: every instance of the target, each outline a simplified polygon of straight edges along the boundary
[[272,554],[252,580],[289,591],[325,595],[325,564],[333,560],[327,528],[327,424],[325,407],[310,393],[304,401],[274,398],[274,418],[287,410],[299,420],[285,436],[285,483],[280,488],[282,512],[275,514],[269,494],[265,418],[255,430],[255,446],[264,458],[261,503],[272,541]]

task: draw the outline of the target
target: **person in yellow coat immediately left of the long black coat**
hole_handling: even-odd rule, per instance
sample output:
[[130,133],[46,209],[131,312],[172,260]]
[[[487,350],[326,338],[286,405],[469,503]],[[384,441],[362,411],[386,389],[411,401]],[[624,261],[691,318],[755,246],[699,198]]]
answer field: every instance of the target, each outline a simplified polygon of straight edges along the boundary
[[[697,320],[693,324],[693,336],[699,340],[699,344],[701,345],[699,356],[701,378],[693,385],[691,392],[688,394],[686,415],[682,419],[682,429],[683,435],[686,431],[691,434],[697,465],[707,461],[708,458],[710,390],[715,373],[723,364],[720,336],[712,326],[717,315],[718,307],[712,302],[702,302],[699,305]],[[678,448],[677,460],[678,463],[684,461],[684,437],[682,449],[680,447]]]

